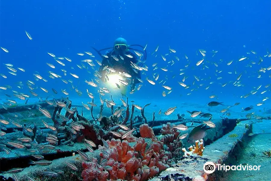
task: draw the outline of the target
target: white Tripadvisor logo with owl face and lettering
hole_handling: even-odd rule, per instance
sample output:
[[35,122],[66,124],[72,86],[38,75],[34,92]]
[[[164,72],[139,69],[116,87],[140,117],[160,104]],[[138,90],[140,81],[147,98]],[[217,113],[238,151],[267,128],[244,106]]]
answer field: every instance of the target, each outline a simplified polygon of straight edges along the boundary
[[213,162],[211,161],[208,161],[204,164],[203,166],[203,170],[205,173],[213,173],[215,170],[216,170],[216,166],[217,166],[217,170],[223,170],[223,171],[229,171],[229,170],[260,170],[260,167],[261,165],[248,165],[248,164],[245,164],[245,165],[221,165],[221,164],[214,164]]

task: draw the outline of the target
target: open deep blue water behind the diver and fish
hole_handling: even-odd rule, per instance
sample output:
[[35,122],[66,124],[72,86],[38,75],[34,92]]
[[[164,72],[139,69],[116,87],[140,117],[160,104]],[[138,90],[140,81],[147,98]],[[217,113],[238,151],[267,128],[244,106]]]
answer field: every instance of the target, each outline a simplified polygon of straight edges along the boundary
[[[189,1],[1,1],[1,24],[0,24],[0,46],[9,50],[9,53],[0,51],[0,72],[8,76],[7,79],[0,77],[1,85],[8,84],[13,90],[28,93],[28,88],[24,83],[27,80],[33,81],[34,71],[38,71],[48,82],[38,81],[37,86],[44,87],[51,94],[44,93],[41,89],[34,90],[40,97],[45,98],[52,95],[51,88],[59,92],[59,96],[64,96],[61,89],[67,89],[71,97],[79,97],[74,90],[69,90],[70,84],[64,84],[60,79],[48,77],[48,71],[53,71],[63,76],[61,69],[67,70],[65,80],[72,79],[74,85],[83,91],[82,97],[87,97],[86,88],[92,92],[97,89],[86,85],[84,80],[95,79],[93,74],[86,70],[79,69],[76,64],[81,64],[81,60],[87,56],[79,56],[77,53],[89,51],[94,53],[96,58],[101,61],[91,46],[97,49],[112,47],[117,37],[125,38],[129,44],[140,44],[147,46],[146,65],[149,71],[142,75],[144,80],[143,87],[130,95],[137,99],[152,100],[177,100],[180,102],[193,101],[206,104],[211,101],[210,95],[217,95],[220,101],[232,105],[235,102],[242,102],[244,107],[262,102],[263,97],[270,97],[270,87],[264,88],[270,83],[270,71],[260,72],[261,78],[257,78],[257,71],[260,68],[270,66],[270,58],[263,57],[266,50],[271,51],[271,17],[269,1],[216,1],[216,2],[189,2]],[[33,40],[29,40],[25,30],[30,33]],[[157,45],[159,49],[157,57],[151,56]],[[164,62],[161,55],[169,53],[169,46],[177,52],[166,56],[167,62],[174,59],[175,64],[170,66]],[[245,46],[245,48],[244,48]],[[202,66],[196,67],[195,64],[202,59],[198,49],[207,51],[204,65],[209,69],[201,70]],[[212,58],[212,50],[218,53]],[[253,50],[254,54],[246,54]],[[195,52],[198,52],[196,56]],[[59,65],[47,54],[54,53],[57,57],[68,57],[72,62],[62,60],[65,67]],[[188,56],[189,62],[185,59]],[[178,62],[174,56],[178,56]],[[238,59],[247,56],[242,62]],[[259,56],[263,62],[258,65]],[[222,61],[220,61],[222,59]],[[230,60],[234,62],[227,66]],[[215,67],[210,62],[216,62],[219,66]],[[256,62],[252,68],[245,67],[251,61]],[[46,62],[56,66],[51,69]],[[158,62],[159,69],[152,71],[152,64]],[[18,70],[17,76],[8,73],[8,69],[2,63],[11,63],[15,68],[21,67],[26,72]],[[179,69],[184,68],[190,63],[188,68],[183,71],[184,75],[179,75]],[[160,68],[168,65],[168,72]],[[73,66],[74,70],[70,67]],[[96,64],[95,69],[98,69]],[[221,73],[217,73],[222,71]],[[93,73],[94,71],[90,69]],[[237,71],[237,74],[234,71]],[[173,72],[170,72],[173,71]],[[231,71],[232,74],[227,72]],[[160,78],[156,85],[151,85],[145,78],[152,78],[152,73],[159,73]],[[244,86],[236,87],[232,83],[237,76],[243,72],[241,84]],[[73,78],[69,73],[79,75],[78,79]],[[215,76],[215,73],[217,76]],[[162,97],[165,90],[158,82],[168,76],[165,85],[173,88],[171,94]],[[174,79],[171,77],[176,75]],[[196,75],[201,80],[192,85]],[[191,85],[189,89],[181,87],[177,81],[188,77],[185,84]],[[210,77],[210,79],[209,79]],[[222,79],[217,80],[218,77]],[[164,79],[166,80],[166,79]],[[19,89],[14,84],[23,81],[23,89]],[[214,84],[209,84],[214,81]],[[229,83],[229,81],[233,81]],[[221,84],[227,83],[225,87]],[[197,88],[196,85],[204,84]],[[248,94],[253,87],[262,87],[254,95],[246,99],[240,99],[241,95]],[[209,86],[208,90],[204,88]],[[191,92],[191,89],[197,89]],[[263,90],[266,93],[260,94]],[[167,92],[167,91],[166,91]],[[4,91],[1,92],[1,98]],[[10,90],[5,93],[12,94]],[[187,95],[192,93],[191,95]],[[96,93],[95,93],[96,94]],[[129,95],[129,93],[127,93]],[[97,100],[98,101],[98,100]],[[247,101],[247,102],[246,102]],[[175,106],[175,105],[172,105]],[[176,105],[178,106],[178,105]],[[270,100],[266,100],[262,107],[270,108]]]

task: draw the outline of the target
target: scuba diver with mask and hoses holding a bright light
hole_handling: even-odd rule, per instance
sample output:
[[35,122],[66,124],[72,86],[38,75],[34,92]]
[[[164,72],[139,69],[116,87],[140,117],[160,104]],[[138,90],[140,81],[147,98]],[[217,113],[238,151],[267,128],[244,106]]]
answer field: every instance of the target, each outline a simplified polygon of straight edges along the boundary
[[[124,38],[117,38],[114,42],[113,48],[105,48],[101,50],[97,50],[94,47],[92,47],[98,54],[102,57],[102,62],[101,66],[99,68],[99,73],[101,74],[101,79],[103,82],[110,81],[108,74],[107,68],[111,68],[115,70],[114,74],[121,74],[125,72],[128,74],[127,77],[125,77],[125,81],[131,85],[131,90],[135,90],[136,84],[138,84],[140,81],[138,79],[141,79],[141,74],[139,70],[136,70],[132,67],[132,63],[142,66],[142,62],[146,60],[146,51],[141,51],[138,49],[131,48],[131,46],[139,46],[142,49],[144,49],[143,46],[141,45],[128,45],[127,41]],[[109,50],[112,49],[111,51],[107,52],[106,55],[102,55],[101,51],[103,50]],[[137,59],[136,55],[132,53],[129,50],[134,50],[136,54],[144,55],[144,58],[139,62]],[[132,62],[132,63],[131,63]],[[121,85],[119,83],[119,80],[115,82],[114,85],[120,89]],[[125,95],[126,93],[126,86],[122,88],[122,94]]]

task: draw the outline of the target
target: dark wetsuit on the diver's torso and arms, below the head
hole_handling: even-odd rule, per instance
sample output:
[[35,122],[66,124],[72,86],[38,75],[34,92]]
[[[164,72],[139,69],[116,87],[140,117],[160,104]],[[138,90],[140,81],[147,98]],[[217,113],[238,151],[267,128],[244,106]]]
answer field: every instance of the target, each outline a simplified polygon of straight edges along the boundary
[[[132,88],[138,84],[140,81],[137,79],[141,79],[141,74],[140,71],[138,71],[138,73],[136,73],[131,66],[131,62],[137,64],[138,60],[136,59],[136,55],[133,54],[132,52],[128,51],[126,52],[126,54],[130,54],[133,56],[133,58],[129,58],[127,56],[125,56],[124,54],[121,54],[121,56],[123,57],[124,61],[120,59],[120,56],[116,55],[115,51],[111,51],[109,53],[107,53],[108,58],[103,58],[101,64],[102,66],[99,68],[99,73],[102,76],[102,81],[105,80],[105,70],[103,71],[103,68],[105,66],[108,66],[109,68],[113,68],[114,70],[116,70],[116,72],[118,73],[119,71],[121,73],[125,72],[128,73],[129,75],[131,75],[131,80],[134,79],[134,83],[132,84]],[[112,56],[116,56],[119,61],[116,61]]]

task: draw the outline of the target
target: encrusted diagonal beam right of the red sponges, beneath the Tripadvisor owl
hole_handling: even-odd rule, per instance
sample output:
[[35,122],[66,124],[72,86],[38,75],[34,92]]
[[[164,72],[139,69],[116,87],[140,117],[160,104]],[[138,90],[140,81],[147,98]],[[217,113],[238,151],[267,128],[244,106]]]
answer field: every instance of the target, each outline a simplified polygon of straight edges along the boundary
[[219,180],[223,177],[223,171],[217,169],[212,174],[204,172],[203,167],[207,161],[215,164],[229,164],[232,157],[240,154],[238,150],[244,146],[248,138],[248,134],[252,132],[251,122],[244,121],[236,125],[236,127],[216,140],[204,149],[203,156],[193,155],[188,158],[183,158],[177,164],[173,165],[161,172],[159,176],[154,177],[151,181],[159,180],[179,180],[192,181],[195,178],[198,180]]

